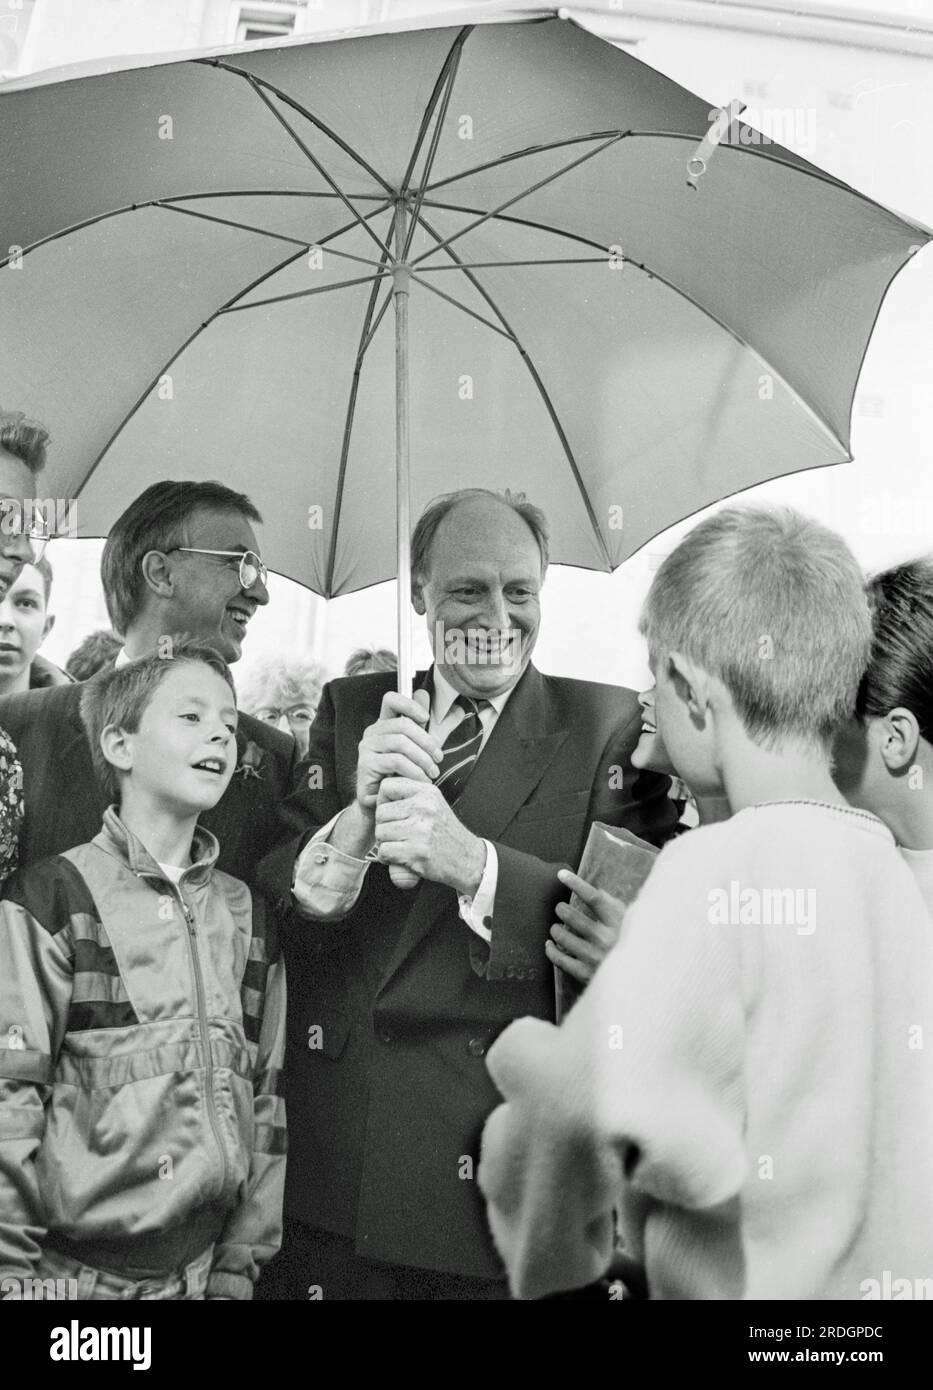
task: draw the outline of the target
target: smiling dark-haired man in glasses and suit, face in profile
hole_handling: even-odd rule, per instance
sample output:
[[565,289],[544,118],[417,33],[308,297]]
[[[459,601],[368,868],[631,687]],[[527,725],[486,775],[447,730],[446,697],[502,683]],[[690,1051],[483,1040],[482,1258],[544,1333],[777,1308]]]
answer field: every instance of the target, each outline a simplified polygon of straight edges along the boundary
[[[268,603],[253,531],[260,520],[249,498],[220,482],[157,482],[127,507],[100,566],[110,619],[124,638],[117,664],[156,652],[179,634],[210,642],[227,662],[239,659],[250,619]],[[25,562],[25,541],[21,550]],[[86,844],[100,828],[106,798],[95,780],[79,703],[81,685],[0,701],[0,727],[22,763],[22,865]],[[281,841],[277,809],[298,748],[249,714],[239,716],[236,748],[238,770],[202,823],[220,841],[218,867],[249,883],[263,855]]]

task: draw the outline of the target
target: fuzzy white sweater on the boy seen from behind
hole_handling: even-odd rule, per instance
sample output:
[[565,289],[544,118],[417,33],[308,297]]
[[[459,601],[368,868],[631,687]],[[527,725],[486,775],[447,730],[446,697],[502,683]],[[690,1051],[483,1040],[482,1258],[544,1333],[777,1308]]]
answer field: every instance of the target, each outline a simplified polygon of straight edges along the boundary
[[[670,844],[560,1029],[489,1052],[513,1293],[861,1298],[933,1276],[933,923],[889,830],[816,802]],[[900,1286],[901,1289],[904,1286]]]

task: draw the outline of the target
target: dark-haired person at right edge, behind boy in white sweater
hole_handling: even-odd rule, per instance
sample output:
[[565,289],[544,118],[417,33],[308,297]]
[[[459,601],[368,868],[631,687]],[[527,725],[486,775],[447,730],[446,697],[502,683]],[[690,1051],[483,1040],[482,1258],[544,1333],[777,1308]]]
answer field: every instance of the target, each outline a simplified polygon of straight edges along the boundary
[[873,578],[872,656],[836,781],[887,824],[933,910],[933,560]]

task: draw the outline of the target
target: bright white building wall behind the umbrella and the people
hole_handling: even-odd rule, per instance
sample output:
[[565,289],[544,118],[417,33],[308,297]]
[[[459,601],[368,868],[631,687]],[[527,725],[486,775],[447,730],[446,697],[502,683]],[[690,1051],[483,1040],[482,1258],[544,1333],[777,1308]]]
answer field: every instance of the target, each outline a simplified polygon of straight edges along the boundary
[[[3,7],[0,0],[0,13]],[[225,43],[232,8],[229,0],[36,0],[24,65],[36,70],[113,53]],[[300,11],[300,26],[338,28],[367,15],[374,21],[414,13],[442,15],[451,8],[430,0],[424,6],[417,0],[321,0],[320,7]],[[676,8],[688,13],[684,4]],[[697,13],[711,8],[698,6]],[[727,8],[716,7],[719,13]],[[825,13],[833,6],[813,0],[798,8]],[[904,26],[925,22],[929,28],[933,19],[933,0],[887,6],[847,0],[840,8],[872,17],[900,14]],[[797,138],[783,133],[784,143],[870,197],[933,225],[926,143],[933,129],[930,58],[801,40],[788,36],[793,18],[777,14],[770,33],[756,33],[652,18],[662,10],[672,13],[670,0],[656,0],[654,7],[652,0],[617,0],[578,14],[591,28],[612,25],[616,35],[638,38],[634,51],[640,58],[711,106],[740,97],[749,107],[744,120],[751,124],[754,110],[762,115],[774,108],[800,113]],[[798,235],[797,228],[788,227],[787,235]],[[723,274],[729,274],[727,264]],[[855,463],[779,480],[749,496],[788,502],[836,525],[869,569],[933,552],[932,368],[933,250],[926,250],[904,270],[883,307],[857,398]],[[502,485],[508,482],[503,474]],[[659,556],[684,528],[659,537],[612,577],[553,569],[545,588],[538,664],[558,674],[642,684],[637,610]],[[99,550],[99,542],[92,541],[51,546],[58,624],[46,651],[54,660],[64,660],[86,631],[104,621],[96,581]],[[248,659],[299,646],[313,649],[336,673],[353,646],[396,645],[394,612],[394,585],[325,606],[279,580],[268,609],[253,620]],[[423,635],[419,655],[428,656]]]

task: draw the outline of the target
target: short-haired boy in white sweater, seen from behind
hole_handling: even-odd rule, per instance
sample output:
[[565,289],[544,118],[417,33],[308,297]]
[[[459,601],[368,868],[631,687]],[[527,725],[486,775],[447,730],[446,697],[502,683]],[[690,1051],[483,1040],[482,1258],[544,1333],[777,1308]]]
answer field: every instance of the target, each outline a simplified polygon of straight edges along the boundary
[[[480,1184],[513,1291],[599,1277],[613,1208],[654,1298],[859,1298],[933,1250],[933,926],[834,787],[869,644],[844,542],[726,509],[658,571],[658,728],[730,820],[666,847],[560,1029],[488,1065]],[[573,874],[592,910],[599,895]]]

